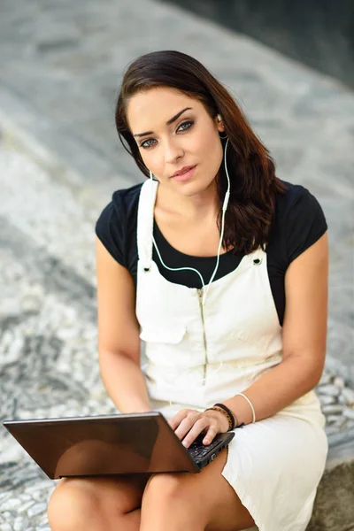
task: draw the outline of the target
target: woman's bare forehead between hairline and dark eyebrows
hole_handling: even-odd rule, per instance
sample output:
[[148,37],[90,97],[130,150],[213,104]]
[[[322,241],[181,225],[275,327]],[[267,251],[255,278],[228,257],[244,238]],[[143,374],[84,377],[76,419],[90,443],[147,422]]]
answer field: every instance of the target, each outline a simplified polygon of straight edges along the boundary
[[155,124],[165,125],[177,112],[185,107],[204,109],[196,99],[186,96],[177,89],[157,87],[132,96],[127,104],[127,121],[133,134],[151,129]]

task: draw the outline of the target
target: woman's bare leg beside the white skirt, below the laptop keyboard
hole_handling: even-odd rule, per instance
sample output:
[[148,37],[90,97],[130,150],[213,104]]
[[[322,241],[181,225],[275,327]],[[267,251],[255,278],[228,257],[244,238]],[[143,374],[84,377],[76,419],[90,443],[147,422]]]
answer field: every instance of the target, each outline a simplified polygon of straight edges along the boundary
[[142,496],[140,531],[241,531],[250,513],[221,475],[227,449],[200,473],[153,474]]

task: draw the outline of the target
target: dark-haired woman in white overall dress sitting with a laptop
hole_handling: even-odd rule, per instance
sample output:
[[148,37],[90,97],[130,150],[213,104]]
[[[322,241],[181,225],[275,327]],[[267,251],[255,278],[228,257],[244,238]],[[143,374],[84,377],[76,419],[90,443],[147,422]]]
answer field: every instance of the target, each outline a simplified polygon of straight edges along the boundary
[[234,99],[181,52],[128,67],[116,124],[149,179],[96,223],[104,385],[120,412],[163,412],[186,447],[237,431],[198,474],[60,481],[51,529],[304,530],[327,458],[319,203],[275,176]]

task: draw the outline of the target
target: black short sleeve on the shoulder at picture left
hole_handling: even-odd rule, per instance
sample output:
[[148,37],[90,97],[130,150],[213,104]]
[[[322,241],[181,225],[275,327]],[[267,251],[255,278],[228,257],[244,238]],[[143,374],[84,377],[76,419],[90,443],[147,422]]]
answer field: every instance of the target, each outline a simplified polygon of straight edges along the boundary
[[[104,207],[96,221],[95,232],[98,239],[112,257],[121,265],[127,264],[127,257],[124,252],[124,219],[123,212],[117,214],[117,209],[113,201]],[[121,219],[119,219],[121,218]]]

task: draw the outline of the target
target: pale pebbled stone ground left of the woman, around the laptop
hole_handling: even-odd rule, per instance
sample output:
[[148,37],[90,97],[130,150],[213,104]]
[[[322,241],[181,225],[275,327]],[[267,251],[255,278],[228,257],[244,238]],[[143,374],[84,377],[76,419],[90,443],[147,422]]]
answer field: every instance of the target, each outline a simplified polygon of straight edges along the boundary
[[[116,412],[96,355],[96,210],[4,143],[0,182],[0,419]],[[1,427],[0,530],[49,529],[56,483]]]

